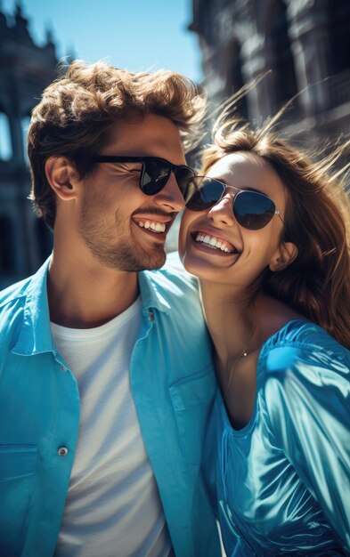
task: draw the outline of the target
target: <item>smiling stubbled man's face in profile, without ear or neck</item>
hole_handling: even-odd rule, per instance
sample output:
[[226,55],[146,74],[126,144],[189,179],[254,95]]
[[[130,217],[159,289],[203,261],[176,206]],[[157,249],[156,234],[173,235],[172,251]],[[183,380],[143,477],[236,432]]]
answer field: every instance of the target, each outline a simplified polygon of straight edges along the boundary
[[[157,115],[116,125],[99,155],[162,157],[185,164],[177,127]],[[154,196],[140,190],[140,173],[140,163],[98,163],[82,181],[78,234],[94,258],[111,269],[159,269],[166,261],[167,231],[184,206],[173,173]]]

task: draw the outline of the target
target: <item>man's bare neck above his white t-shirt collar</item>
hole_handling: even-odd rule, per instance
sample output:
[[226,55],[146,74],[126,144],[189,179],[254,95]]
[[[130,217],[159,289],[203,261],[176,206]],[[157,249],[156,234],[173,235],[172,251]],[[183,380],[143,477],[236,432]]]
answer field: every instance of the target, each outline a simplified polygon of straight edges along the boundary
[[47,294],[53,323],[99,327],[134,303],[139,294],[137,273],[106,269],[98,262],[68,264],[53,253]]

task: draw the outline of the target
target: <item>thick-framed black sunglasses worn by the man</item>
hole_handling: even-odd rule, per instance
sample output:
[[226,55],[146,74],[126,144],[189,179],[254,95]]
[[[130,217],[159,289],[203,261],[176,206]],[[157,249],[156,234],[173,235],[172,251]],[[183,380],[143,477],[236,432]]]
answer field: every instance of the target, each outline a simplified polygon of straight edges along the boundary
[[114,157],[98,155],[93,157],[96,163],[141,163],[140,189],[146,196],[154,196],[167,185],[170,174],[174,172],[175,180],[183,198],[187,200],[195,172],[186,165],[173,165],[165,158],[159,157]]

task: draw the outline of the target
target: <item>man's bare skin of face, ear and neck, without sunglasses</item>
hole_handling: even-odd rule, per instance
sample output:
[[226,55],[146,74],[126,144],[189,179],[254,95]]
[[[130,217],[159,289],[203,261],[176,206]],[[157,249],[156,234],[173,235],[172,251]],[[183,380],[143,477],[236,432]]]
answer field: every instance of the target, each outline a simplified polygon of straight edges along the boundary
[[[148,115],[118,123],[101,155],[154,156],[185,164],[177,127]],[[139,165],[103,163],[81,179],[66,157],[50,157],[45,171],[57,198],[48,295],[54,322],[96,327],[125,311],[138,295],[136,271],[161,267],[167,231],[183,209],[174,174],[155,196],[139,187]],[[159,222],[152,232],[139,222]]]

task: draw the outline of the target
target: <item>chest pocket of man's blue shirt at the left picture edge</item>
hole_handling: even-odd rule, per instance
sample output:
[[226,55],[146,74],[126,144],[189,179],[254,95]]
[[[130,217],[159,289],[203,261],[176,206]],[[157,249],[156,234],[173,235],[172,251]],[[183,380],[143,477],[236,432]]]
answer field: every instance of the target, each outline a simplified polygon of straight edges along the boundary
[[20,555],[37,469],[35,445],[0,445],[0,555]]

